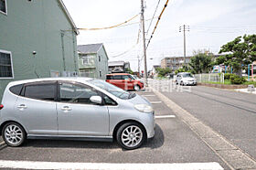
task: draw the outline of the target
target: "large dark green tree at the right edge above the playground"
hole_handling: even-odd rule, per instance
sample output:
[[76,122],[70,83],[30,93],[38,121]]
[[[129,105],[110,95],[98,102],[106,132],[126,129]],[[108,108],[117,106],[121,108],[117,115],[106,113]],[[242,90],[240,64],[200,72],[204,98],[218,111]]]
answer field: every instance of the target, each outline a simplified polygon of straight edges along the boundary
[[242,69],[256,60],[256,35],[236,37],[223,45],[219,53],[226,53],[216,59],[216,63],[232,66],[234,72],[241,77]]

